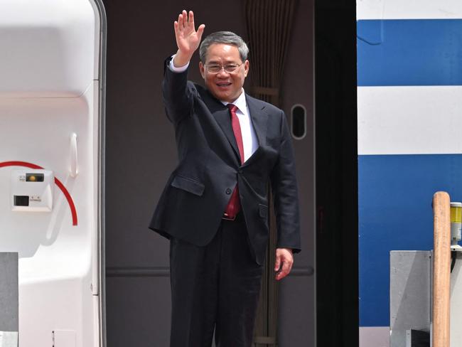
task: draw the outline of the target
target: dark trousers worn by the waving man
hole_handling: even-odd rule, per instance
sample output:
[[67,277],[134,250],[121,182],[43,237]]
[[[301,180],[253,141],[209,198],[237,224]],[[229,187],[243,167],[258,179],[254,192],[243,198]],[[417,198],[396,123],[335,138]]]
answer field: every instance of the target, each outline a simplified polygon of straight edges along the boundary
[[172,239],[171,347],[250,347],[262,281],[242,213],[205,247]]

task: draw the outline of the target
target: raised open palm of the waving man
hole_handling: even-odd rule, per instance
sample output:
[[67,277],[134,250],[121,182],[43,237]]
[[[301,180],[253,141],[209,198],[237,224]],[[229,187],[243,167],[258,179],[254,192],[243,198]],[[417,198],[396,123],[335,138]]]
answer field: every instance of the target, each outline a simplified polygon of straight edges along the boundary
[[183,12],[178,15],[178,21],[175,21],[173,26],[175,27],[178,50],[185,55],[193,55],[195,50],[199,47],[200,38],[202,38],[205,25],[201,24],[198,30],[195,31],[193,11],[189,11],[188,20],[188,14],[183,10]]

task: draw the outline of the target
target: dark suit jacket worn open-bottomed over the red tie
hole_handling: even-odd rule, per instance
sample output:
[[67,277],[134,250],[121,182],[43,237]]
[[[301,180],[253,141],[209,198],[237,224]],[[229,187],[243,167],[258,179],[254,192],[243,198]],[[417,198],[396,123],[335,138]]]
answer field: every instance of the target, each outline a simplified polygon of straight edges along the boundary
[[168,238],[207,245],[237,183],[249,245],[262,264],[269,235],[270,181],[277,247],[299,252],[294,151],[284,112],[246,95],[259,146],[241,165],[229,110],[204,87],[189,82],[187,74],[164,70],[163,102],[175,127],[179,162],[168,178],[149,228]]

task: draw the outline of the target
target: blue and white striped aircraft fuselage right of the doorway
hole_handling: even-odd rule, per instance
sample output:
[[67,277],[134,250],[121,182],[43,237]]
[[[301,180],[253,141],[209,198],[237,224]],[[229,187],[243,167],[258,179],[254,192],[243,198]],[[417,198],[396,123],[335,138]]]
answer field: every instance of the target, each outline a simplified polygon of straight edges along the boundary
[[390,336],[390,250],[431,250],[462,201],[462,1],[358,0],[360,346]]

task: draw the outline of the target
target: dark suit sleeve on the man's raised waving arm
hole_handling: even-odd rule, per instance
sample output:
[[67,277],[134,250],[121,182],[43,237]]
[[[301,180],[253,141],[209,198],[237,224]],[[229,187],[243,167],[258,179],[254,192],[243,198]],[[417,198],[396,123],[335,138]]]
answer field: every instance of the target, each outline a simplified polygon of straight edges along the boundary
[[166,115],[173,124],[189,117],[193,110],[193,84],[188,82],[188,70],[175,73],[168,65],[167,58],[163,67],[162,97]]

